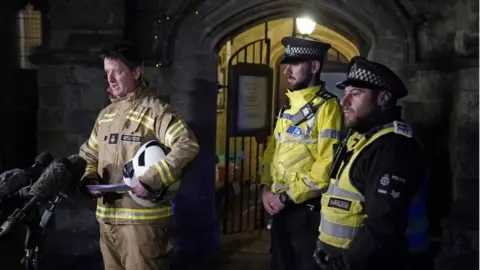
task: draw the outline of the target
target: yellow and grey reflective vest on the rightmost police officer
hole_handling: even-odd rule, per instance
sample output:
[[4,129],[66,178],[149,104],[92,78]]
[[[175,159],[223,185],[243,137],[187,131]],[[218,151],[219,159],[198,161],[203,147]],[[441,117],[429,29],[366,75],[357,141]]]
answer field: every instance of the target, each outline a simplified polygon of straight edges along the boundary
[[365,198],[355,188],[350,180],[350,170],[355,159],[365,147],[372,144],[378,138],[396,133],[411,137],[411,130],[401,122],[394,122],[384,126],[368,139],[358,133],[354,133],[347,141],[347,151],[353,151],[352,156],[345,164],[342,162],[337,177],[331,179],[328,191],[322,196],[321,221],[319,239],[328,245],[346,249],[356,233],[363,227],[367,217],[363,205]]

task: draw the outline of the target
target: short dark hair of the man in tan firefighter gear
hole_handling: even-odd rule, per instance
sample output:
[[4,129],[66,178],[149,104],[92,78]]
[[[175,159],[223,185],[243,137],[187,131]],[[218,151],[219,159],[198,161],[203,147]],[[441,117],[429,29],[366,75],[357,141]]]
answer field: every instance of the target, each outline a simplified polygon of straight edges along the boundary
[[100,51],[102,59],[121,60],[130,69],[143,66],[143,55],[138,47],[130,42],[122,41]]

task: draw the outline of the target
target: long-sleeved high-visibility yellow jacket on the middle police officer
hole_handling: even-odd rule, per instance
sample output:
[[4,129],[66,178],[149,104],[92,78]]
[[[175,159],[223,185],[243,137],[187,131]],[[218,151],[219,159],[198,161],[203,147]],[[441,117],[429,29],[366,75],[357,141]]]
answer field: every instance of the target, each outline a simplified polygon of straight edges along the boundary
[[[334,145],[341,137],[342,111],[338,99],[321,86],[289,91],[287,97],[290,108],[279,115],[267,144],[261,182],[302,203],[320,196],[328,186]],[[315,115],[293,126],[292,116],[312,99],[314,106],[321,104]]]

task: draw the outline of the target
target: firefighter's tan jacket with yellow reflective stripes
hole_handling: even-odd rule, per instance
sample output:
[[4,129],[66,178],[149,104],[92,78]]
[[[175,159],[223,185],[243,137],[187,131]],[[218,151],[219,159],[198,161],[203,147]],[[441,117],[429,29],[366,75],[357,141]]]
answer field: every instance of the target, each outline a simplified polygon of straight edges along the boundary
[[[182,169],[199,151],[180,115],[151,93],[146,82],[125,97],[110,98],[112,103],[100,112],[90,138],[80,148],[80,155],[87,160],[81,181],[93,178],[101,184],[123,183],[123,165],[150,140],[159,140],[170,152],[139,180],[154,191],[178,181]],[[168,224],[172,209],[170,204],[145,208],[124,193],[111,204],[99,199],[96,216],[113,224]]]

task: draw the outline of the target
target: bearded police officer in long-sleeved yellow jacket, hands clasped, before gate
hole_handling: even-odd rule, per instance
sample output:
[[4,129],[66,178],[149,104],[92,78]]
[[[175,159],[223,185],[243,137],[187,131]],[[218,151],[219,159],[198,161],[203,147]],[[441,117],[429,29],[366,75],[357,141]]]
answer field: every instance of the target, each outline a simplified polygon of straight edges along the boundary
[[329,44],[282,39],[289,89],[263,157],[262,202],[271,219],[272,269],[316,269],[312,257],[334,146],[342,128],[338,99],[320,80]]

